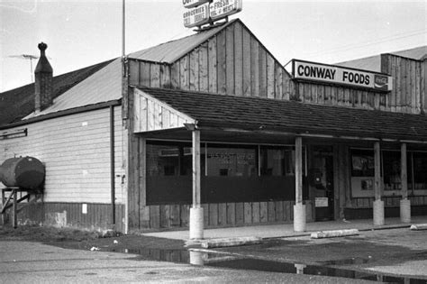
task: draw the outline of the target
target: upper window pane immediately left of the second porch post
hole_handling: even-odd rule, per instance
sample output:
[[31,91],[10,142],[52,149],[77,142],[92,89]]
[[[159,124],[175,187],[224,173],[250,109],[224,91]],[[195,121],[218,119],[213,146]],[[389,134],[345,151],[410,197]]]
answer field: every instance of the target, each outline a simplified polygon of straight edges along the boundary
[[261,147],[261,176],[295,176],[295,151],[284,147]]

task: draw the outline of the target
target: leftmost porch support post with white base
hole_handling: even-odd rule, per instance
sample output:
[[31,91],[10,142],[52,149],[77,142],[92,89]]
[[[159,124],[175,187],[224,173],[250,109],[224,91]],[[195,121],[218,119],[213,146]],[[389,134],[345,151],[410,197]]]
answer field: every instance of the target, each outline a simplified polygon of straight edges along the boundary
[[200,190],[200,131],[193,130],[193,206],[190,208],[190,239],[203,239],[204,214]]

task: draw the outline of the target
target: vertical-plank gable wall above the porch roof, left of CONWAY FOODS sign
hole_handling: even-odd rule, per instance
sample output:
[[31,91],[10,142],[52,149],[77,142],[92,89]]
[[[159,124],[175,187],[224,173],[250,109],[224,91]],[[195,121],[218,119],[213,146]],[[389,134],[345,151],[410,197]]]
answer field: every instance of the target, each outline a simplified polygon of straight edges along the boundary
[[130,84],[227,95],[289,99],[289,74],[241,23],[234,23],[176,62],[130,60]]

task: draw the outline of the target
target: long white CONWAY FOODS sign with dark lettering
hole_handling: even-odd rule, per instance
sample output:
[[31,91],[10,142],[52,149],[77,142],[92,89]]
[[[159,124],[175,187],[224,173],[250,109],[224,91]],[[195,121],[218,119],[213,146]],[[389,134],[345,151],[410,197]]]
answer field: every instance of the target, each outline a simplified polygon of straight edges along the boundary
[[303,60],[293,60],[292,66],[295,79],[350,85],[353,87],[368,87],[380,91],[391,91],[393,87],[392,78],[382,73]]

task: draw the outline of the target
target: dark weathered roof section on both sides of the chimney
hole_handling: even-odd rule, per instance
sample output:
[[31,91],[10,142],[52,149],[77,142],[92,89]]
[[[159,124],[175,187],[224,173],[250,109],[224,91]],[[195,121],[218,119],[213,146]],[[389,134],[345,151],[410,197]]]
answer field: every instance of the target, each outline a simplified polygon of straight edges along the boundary
[[[53,96],[58,97],[71,87],[75,87],[82,80],[103,69],[111,61],[104,61],[84,69],[55,76],[52,80]],[[20,121],[32,112],[34,112],[34,83],[0,93],[0,125]]]

